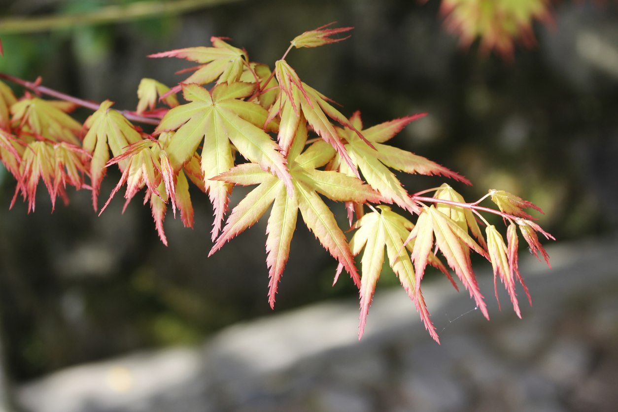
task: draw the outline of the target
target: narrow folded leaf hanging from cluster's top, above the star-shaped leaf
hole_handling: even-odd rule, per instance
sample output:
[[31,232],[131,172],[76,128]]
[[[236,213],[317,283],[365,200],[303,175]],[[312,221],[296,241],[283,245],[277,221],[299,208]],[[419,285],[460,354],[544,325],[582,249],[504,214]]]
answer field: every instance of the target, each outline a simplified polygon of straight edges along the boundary
[[[328,120],[330,117],[342,125],[355,130],[353,125],[341,112],[337,111],[328,98],[315,89],[300,81],[298,75],[285,60],[275,62],[275,75],[279,82],[279,96],[268,112],[265,124],[277,115],[281,117],[277,140],[282,153],[287,154],[294,141],[294,136],[300,124],[301,115],[306,119],[311,128],[320,135],[329,145],[336,149],[337,153],[352,166],[352,159],[347,154],[344,144],[339,138],[334,126]],[[364,137],[358,132],[360,138]],[[371,143],[370,143],[371,144]],[[360,178],[360,175],[357,177]]]

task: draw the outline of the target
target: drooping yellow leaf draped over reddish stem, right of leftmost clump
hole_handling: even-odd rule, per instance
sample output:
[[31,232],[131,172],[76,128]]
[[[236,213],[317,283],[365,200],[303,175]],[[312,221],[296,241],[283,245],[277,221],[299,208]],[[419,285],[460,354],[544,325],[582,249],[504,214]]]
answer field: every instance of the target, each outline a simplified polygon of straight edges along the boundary
[[[97,209],[99,187],[105,175],[105,165],[109,160],[109,151],[114,156],[124,152],[125,146],[142,140],[140,133],[122,114],[111,109],[113,102],[106,100],[99,109],[86,119],[84,127],[88,128],[83,138],[83,149],[91,154],[90,180],[92,187],[92,206]],[[125,161],[119,162],[124,172]]]

